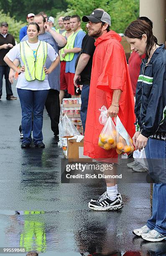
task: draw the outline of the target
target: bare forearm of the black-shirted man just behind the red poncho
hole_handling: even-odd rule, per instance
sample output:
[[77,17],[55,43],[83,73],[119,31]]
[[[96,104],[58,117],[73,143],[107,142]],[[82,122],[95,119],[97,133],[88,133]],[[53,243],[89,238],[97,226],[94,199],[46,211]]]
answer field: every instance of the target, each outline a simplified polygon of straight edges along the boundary
[[81,78],[80,74],[84,70],[84,68],[87,66],[89,59],[90,59],[89,54],[82,53],[79,57],[76,72],[75,72],[75,75],[74,75],[74,85],[76,87],[77,87],[77,80],[80,80],[80,78]]

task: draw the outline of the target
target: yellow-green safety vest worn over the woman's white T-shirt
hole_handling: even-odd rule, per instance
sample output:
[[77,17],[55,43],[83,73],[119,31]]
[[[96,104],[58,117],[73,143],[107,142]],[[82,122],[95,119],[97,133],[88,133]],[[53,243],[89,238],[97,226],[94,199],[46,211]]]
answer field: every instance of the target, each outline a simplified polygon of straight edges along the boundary
[[26,80],[29,82],[35,79],[43,81],[45,79],[44,64],[47,58],[47,43],[40,41],[35,58],[33,50],[27,42],[20,42],[20,56],[25,65]]

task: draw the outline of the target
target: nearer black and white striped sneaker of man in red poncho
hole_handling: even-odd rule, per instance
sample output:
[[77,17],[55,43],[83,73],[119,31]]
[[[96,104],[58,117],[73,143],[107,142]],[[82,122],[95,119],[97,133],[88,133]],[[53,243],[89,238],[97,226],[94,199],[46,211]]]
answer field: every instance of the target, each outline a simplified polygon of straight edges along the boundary
[[116,197],[114,201],[110,200],[107,192],[105,192],[97,201],[90,201],[88,207],[95,211],[107,211],[107,210],[119,210],[123,206],[120,203],[119,197]]

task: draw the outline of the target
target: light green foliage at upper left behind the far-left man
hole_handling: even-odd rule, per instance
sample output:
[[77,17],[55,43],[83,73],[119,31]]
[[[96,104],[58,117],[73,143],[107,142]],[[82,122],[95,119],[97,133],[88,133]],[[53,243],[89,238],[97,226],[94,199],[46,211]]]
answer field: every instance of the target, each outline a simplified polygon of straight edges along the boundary
[[15,20],[15,16],[11,18],[9,13],[5,14],[3,13],[3,10],[0,11],[0,23],[1,22],[8,23],[8,26],[9,26],[8,32],[14,36],[17,42],[19,42],[20,28],[22,28],[23,26],[26,26],[26,24],[23,23],[22,21]]

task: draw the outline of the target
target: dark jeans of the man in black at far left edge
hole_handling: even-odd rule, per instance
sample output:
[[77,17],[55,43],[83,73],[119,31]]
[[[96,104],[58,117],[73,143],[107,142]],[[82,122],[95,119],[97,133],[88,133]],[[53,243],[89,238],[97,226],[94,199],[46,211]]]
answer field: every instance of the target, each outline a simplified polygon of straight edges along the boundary
[[6,82],[6,97],[13,95],[12,87],[9,82],[9,72],[10,72],[10,67],[0,66],[0,98],[3,92],[3,76],[4,75],[5,75],[5,82]]

